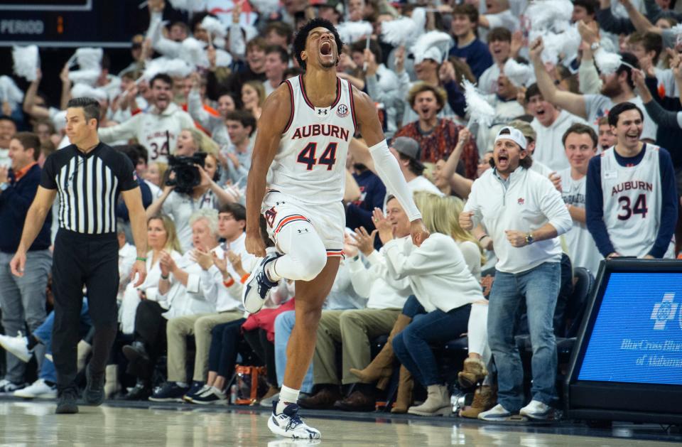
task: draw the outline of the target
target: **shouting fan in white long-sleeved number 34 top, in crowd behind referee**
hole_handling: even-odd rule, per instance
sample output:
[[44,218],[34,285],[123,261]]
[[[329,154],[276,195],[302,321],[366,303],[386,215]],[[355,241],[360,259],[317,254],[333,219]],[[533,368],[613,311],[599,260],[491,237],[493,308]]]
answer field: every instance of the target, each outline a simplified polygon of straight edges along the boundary
[[99,138],[104,143],[135,138],[149,152],[149,162],[167,163],[170,148],[177,146],[180,131],[194,127],[190,114],[171,102],[173,80],[159,74],[151,78],[150,112],[141,112],[116,126],[99,129]]

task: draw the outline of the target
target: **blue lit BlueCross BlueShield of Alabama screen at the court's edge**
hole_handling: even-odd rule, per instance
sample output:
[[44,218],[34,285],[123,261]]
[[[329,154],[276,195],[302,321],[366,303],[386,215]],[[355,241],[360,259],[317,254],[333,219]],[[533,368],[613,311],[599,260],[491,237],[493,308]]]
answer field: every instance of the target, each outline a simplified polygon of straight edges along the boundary
[[682,273],[612,272],[578,380],[682,385]]

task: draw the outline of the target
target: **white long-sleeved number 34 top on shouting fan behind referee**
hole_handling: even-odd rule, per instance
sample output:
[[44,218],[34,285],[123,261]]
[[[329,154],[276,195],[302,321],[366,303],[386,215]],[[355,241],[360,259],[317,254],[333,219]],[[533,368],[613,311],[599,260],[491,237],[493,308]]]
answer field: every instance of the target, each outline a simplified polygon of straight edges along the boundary
[[149,151],[149,163],[167,163],[168,154],[178,144],[180,131],[193,128],[194,121],[190,114],[171,102],[161,113],[153,107],[151,112],[142,112],[116,126],[99,129],[99,139],[109,144],[135,138]]

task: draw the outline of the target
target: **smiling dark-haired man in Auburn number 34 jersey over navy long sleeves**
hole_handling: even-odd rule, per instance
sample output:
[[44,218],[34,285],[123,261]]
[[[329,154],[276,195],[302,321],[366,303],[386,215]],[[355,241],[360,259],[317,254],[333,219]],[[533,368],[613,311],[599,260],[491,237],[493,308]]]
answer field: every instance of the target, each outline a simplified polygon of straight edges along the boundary
[[644,114],[630,102],[609,114],[617,144],[588,167],[588,230],[607,259],[675,257],[677,188],[670,154],[639,141]]

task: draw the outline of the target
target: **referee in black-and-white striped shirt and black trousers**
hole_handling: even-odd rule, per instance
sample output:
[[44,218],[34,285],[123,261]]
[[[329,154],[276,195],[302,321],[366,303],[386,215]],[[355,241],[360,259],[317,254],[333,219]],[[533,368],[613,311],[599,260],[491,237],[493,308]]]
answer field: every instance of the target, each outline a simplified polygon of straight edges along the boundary
[[130,212],[137,259],[131,276],[135,286],[146,276],[146,223],[135,168],[124,154],[99,141],[99,102],[73,98],[67,104],[66,134],[71,145],[45,161],[38,193],[26,215],[21,242],[10,267],[22,276],[31,247],[55,195],[59,194],[59,231],[55,239],[52,287],[55,296],[53,357],[59,402],[56,412],[77,413],[76,345],[80,339],[83,286],[95,328],[92,359],[87,366],[85,402],[104,400],[104,368],[117,332],[119,287],[116,217],[119,193]]

